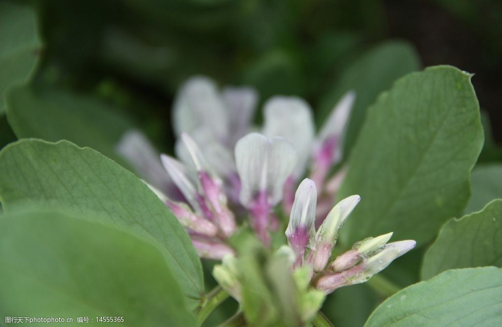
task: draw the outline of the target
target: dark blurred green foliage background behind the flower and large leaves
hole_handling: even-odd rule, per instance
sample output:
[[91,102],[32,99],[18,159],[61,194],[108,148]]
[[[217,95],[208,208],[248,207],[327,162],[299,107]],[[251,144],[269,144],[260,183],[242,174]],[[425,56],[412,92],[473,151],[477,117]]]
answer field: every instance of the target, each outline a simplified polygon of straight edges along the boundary
[[[0,112],[0,147],[16,136],[69,139],[120,161],[114,144],[135,126],[171,152],[176,90],[186,78],[205,74],[221,85],[257,88],[261,103],[276,94],[304,97],[318,122],[344,92],[355,89],[348,151],[366,108],[381,91],[410,71],[450,64],[475,73],[486,134],[480,161],[502,159],[498,0],[9,3],[34,9],[42,46],[33,52],[37,64],[30,83],[15,86],[6,97],[12,115],[8,124]],[[258,109],[257,121],[260,115]],[[385,274],[404,276],[396,279],[402,286],[418,281],[418,274],[402,273],[418,271],[422,254],[415,255],[397,260]],[[211,283],[209,277],[208,287]],[[335,292],[323,311],[336,325],[357,326],[380,300],[359,285]],[[235,303],[227,302],[208,324],[235,310]],[[358,314],[359,321],[347,319]]]

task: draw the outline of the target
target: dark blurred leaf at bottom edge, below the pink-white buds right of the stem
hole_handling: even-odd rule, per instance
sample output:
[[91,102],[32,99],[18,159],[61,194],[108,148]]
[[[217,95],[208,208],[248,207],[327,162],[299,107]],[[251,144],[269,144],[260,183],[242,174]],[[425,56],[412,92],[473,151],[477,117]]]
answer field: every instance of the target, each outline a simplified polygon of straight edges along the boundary
[[360,327],[377,304],[375,292],[367,284],[357,284],[329,295],[321,311],[335,326]]

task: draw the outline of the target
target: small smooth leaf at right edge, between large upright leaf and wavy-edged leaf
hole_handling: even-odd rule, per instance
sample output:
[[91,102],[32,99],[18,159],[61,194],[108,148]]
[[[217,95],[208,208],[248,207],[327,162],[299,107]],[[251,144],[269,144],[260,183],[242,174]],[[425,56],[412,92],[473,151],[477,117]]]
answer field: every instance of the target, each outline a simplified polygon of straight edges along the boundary
[[483,209],[488,202],[502,198],[502,165],[477,165],[471,176],[472,196],[466,213]]

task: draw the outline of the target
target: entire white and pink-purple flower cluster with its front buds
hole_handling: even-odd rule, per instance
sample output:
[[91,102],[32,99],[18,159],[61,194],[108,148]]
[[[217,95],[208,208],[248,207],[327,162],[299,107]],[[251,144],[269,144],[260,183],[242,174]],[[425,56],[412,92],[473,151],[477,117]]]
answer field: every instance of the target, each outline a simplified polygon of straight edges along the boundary
[[[271,233],[280,228],[274,214],[279,203],[290,218],[285,232],[289,245],[278,255],[290,258],[291,268],[307,284],[330,293],[367,280],[415,246],[412,240],[387,243],[389,233],[331,258],[338,230],[360,200],[353,195],[331,208],[346,167],[328,178],[341,159],[340,140],[354,98],[347,93],[316,136],[312,110],[304,100],[274,97],[265,102],[264,125],[256,129],[251,125],[254,90],[220,92],[213,81],[196,77],[181,88],[173,108],[179,160],[162,154],[159,162],[155,149],[136,131],[124,136],[119,151],[187,229],[199,255],[222,259],[215,278],[236,299],[240,272],[228,239],[240,222],[248,221],[268,247]],[[310,178],[296,189],[305,175]]]

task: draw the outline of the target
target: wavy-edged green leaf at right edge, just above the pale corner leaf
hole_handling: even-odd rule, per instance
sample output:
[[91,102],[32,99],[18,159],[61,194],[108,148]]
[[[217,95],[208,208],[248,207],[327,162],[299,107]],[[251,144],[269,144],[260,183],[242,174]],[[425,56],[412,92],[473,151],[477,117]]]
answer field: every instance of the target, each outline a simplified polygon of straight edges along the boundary
[[502,267],[502,200],[483,211],[450,219],[423,258],[422,279],[454,268]]

